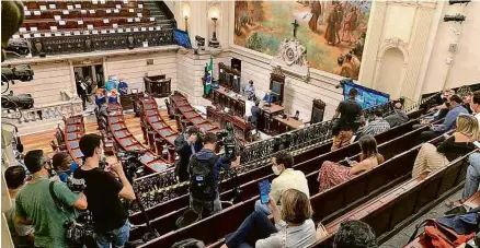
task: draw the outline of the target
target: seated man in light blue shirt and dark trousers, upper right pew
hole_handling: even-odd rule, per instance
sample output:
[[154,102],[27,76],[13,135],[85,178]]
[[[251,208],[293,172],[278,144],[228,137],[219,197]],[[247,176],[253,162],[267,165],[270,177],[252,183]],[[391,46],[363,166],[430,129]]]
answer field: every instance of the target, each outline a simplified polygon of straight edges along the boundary
[[446,131],[454,129],[457,117],[460,114],[468,115],[467,109],[465,109],[465,107],[461,106],[461,102],[462,101],[461,101],[460,96],[453,95],[450,97],[450,104],[449,104],[450,110],[448,111],[447,116],[445,117],[444,122],[442,125],[437,125],[437,126],[430,125],[431,130],[422,132],[420,134],[420,139],[422,141],[428,141],[428,140],[432,140],[433,138],[439,135],[443,132],[446,132]]

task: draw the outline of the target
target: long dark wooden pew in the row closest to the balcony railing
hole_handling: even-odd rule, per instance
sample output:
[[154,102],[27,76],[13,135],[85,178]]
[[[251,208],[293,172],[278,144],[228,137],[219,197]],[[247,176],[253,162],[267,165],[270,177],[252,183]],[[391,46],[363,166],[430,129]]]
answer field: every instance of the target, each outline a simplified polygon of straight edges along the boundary
[[[396,137],[401,135],[401,133],[410,132],[412,130],[412,126],[415,123],[415,120],[411,120],[402,126],[396,127],[387,132],[380,133],[376,135],[376,140],[378,144],[381,144],[384,142],[387,142],[389,140],[392,140]],[[423,130],[423,129],[422,129]],[[342,147],[340,150],[330,152],[331,142],[328,142],[317,149],[312,149],[310,151],[304,152],[301,154],[294,154],[294,160],[296,162],[296,165],[294,166],[295,169],[299,169],[304,172],[306,175],[311,174],[313,172],[317,172],[321,165],[321,163],[324,160],[330,161],[341,161],[345,156],[353,156],[359,152],[359,145],[357,142]],[[322,154],[318,156],[318,154]],[[387,154],[386,154],[387,155]],[[313,158],[311,158],[313,157]],[[229,180],[224,180],[220,182],[220,192],[225,192],[220,194],[221,199],[230,199],[233,196],[233,188],[237,186],[241,186],[248,182],[253,184],[252,181],[255,181],[256,179],[261,178],[273,178],[271,165],[266,164],[264,166],[251,169],[247,173],[240,174],[237,177],[230,178]],[[318,188],[315,187],[315,188]],[[253,186],[251,188],[254,193],[258,193],[256,186]],[[317,189],[315,189],[317,190]],[[180,189],[179,189],[180,192]],[[172,211],[176,211],[179,209],[183,209],[186,205],[188,205],[188,194],[187,194],[187,187],[184,188],[183,191],[185,194],[181,194],[181,197],[175,198],[173,200],[163,202],[161,204],[158,204],[151,209],[148,210],[148,214],[150,219],[155,219],[160,216],[161,214],[170,213]],[[243,191],[243,193],[247,193]],[[130,216],[130,222],[136,224],[141,221],[141,216],[138,214],[135,214]]]

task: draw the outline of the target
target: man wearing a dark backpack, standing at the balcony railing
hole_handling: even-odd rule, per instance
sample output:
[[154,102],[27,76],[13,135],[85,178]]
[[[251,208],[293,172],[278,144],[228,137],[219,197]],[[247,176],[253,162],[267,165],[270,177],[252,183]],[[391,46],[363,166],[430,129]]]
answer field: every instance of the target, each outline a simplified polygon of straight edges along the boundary
[[230,169],[238,166],[238,160],[231,163],[231,160],[215,154],[217,141],[215,133],[207,132],[204,147],[192,155],[188,164],[190,208],[201,219],[221,211],[218,175],[221,168]]

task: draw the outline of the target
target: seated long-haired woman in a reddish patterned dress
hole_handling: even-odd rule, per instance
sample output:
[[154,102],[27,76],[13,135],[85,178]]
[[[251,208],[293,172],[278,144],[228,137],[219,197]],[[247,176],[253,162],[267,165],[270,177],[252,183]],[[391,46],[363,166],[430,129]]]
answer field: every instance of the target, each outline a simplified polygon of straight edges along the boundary
[[358,140],[361,146],[361,162],[354,162],[352,167],[325,161],[320,168],[318,181],[320,182],[319,192],[325,191],[333,186],[350,180],[355,175],[370,170],[384,163],[385,158],[377,150],[377,141],[373,135],[364,135]]

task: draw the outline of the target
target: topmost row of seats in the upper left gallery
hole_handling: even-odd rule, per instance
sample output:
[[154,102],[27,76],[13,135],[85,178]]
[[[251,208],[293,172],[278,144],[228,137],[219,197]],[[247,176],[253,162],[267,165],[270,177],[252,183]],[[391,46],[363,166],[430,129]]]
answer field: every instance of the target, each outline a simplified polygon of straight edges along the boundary
[[[55,9],[64,9],[68,10],[68,7],[71,5],[73,9],[95,9],[95,8],[116,8],[118,4],[122,8],[139,8],[144,4],[144,1],[25,1],[23,5],[26,7],[26,10],[39,10],[41,7],[45,7],[47,9],[50,8],[50,4],[55,5]],[[54,7],[52,5],[52,7]]]

